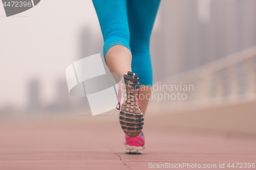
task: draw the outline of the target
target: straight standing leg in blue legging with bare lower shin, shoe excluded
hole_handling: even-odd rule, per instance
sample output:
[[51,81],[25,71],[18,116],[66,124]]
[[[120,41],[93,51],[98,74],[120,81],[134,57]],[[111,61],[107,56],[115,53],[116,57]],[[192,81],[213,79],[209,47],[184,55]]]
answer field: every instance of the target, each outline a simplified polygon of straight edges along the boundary
[[140,78],[139,100],[143,114],[145,114],[152,91],[153,76],[150,58],[150,36],[159,4],[160,0],[127,0],[130,47],[133,56],[132,70]]

